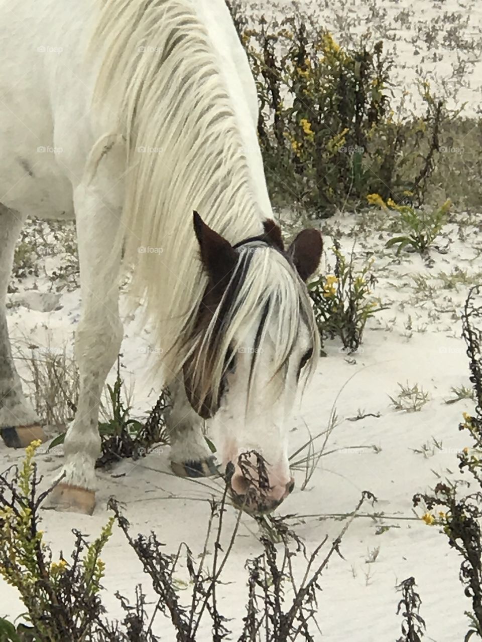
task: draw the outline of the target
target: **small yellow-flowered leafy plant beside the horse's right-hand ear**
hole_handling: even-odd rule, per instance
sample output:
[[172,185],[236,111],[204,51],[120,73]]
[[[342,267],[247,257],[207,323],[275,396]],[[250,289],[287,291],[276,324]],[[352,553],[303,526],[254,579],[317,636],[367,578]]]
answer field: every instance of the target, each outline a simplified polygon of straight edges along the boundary
[[339,336],[346,352],[356,352],[362,342],[366,322],[384,309],[380,299],[371,297],[376,283],[370,272],[373,261],[355,271],[353,255],[347,261],[335,243],[333,275],[320,275],[308,284],[316,322],[322,337]]

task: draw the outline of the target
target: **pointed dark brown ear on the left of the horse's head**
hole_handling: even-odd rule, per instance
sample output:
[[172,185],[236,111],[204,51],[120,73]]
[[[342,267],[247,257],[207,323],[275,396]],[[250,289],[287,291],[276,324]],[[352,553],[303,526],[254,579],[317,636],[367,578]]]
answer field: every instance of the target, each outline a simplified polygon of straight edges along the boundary
[[238,261],[236,250],[220,234],[211,230],[197,212],[193,214],[202,265],[210,277],[212,286],[225,288]]

